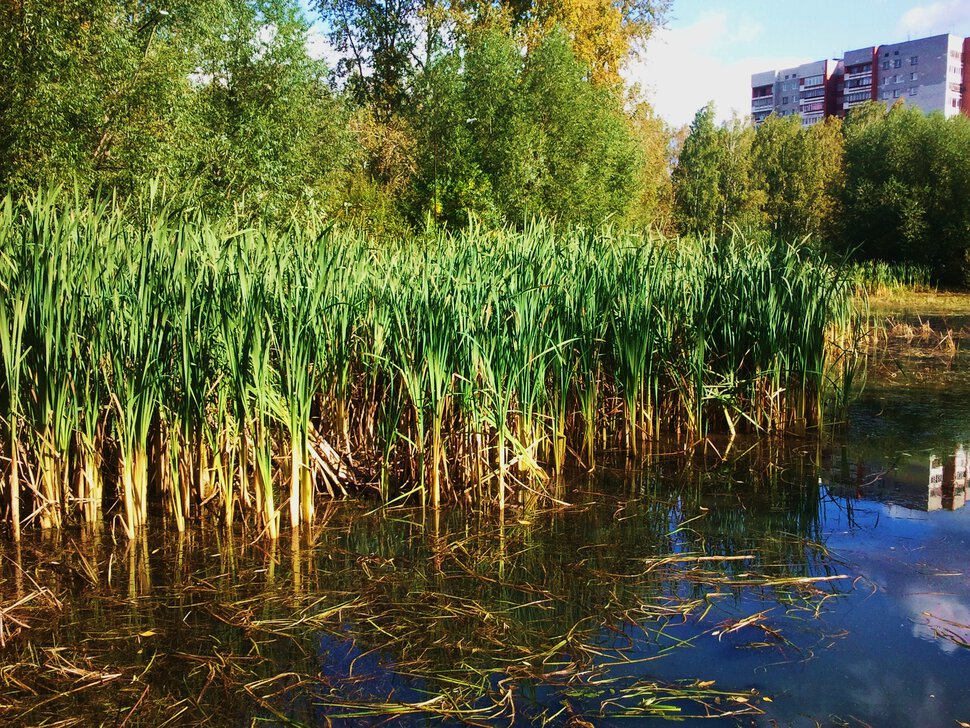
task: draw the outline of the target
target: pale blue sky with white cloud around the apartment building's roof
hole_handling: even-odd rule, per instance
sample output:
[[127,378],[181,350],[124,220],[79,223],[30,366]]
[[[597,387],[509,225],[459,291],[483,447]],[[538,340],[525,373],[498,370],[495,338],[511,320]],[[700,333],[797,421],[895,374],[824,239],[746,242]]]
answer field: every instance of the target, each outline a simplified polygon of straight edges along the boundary
[[680,126],[708,101],[749,113],[752,73],[941,33],[970,36],[970,0],[673,0],[625,75]]

